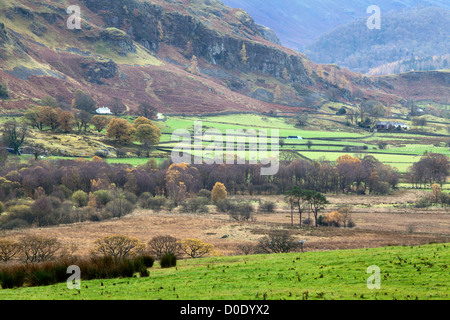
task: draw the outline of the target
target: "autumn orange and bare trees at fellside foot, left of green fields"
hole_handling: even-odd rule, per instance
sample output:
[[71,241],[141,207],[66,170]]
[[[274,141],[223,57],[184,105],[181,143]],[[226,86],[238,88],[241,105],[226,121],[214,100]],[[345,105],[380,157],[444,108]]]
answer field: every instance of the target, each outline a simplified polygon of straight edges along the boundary
[[[118,98],[113,100],[110,105],[112,113],[116,116],[123,114],[126,106]],[[139,105],[136,114],[140,117],[133,124],[122,118],[94,115],[96,108],[96,101],[80,90],[69,106],[47,96],[40,105],[27,109],[19,121],[11,120],[2,126],[2,142],[11,148],[12,153],[19,154],[30,128],[61,133],[86,133],[93,128],[98,133],[106,129],[106,136],[116,144],[138,142],[142,149],[140,152],[146,151],[147,155],[151,147],[159,143],[161,131],[150,120],[156,116],[157,110],[150,104],[142,102]]]

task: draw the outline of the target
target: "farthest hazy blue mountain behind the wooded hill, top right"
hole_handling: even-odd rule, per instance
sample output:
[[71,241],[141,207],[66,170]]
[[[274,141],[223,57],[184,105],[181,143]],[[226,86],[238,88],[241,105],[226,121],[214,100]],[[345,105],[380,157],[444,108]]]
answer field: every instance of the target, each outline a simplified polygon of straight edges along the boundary
[[382,15],[416,6],[450,10],[448,0],[223,0],[242,8],[256,23],[274,30],[284,46],[303,49],[326,32],[355,20],[369,17],[367,8],[376,4]]

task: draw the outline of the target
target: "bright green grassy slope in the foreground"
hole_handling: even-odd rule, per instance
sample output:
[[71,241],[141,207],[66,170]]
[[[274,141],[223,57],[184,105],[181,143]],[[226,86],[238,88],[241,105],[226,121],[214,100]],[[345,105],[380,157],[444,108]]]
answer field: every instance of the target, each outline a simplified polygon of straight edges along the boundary
[[[0,290],[0,299],[148,300],[448,300],[450,244],[230,256],[155,265],[146,278],[82,281]],[[380,289],[369,289],[369,266]]]

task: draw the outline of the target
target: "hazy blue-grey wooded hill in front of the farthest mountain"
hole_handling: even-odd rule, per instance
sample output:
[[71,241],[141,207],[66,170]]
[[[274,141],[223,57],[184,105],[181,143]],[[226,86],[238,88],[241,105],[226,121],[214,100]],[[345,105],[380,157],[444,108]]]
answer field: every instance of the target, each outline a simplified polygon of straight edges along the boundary
[[[315,62],[335,63],[362,73],[390,63],[403,65],[400,72],[448,67],[445,59],[433,62],[431,58],[449,53],[450,10],[387,13],[382,15],[380,30],[370,30],[366,22],[361,19],[324,34],[305,53]],[[391,66],[390,71],[394,70]]]

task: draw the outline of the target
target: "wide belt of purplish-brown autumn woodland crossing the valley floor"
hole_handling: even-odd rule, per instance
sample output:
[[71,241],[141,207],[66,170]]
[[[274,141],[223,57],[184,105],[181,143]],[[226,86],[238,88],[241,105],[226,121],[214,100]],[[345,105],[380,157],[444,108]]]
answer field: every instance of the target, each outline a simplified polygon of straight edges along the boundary
[[[322,194],[385,194],[399,181],[396,169],[372,156],[358,159],[343,155],[334,164],[297,159],[281,163],[274,176],[262,176],[260,169],[259,165],[248,164],[169,161],[158,166],[154,159],[133,167],[108,164],[99,157],[92,161],[3,161],[0,228],[121,218],[136,205],[152,210],[183,206],[186,212],[202,212],[207,211],[207,205],[215,204],[233,219],[252,219],[251,206],[227,199],[238,194],[287,194],[292,208],[297,207],[300,214],[307,204],[318,225],[318,214],[326,204]],[[442,185],[448,173],[448,157],[428,154],[411,168],[410,179],[416,186]],[[261,204],[260,210],[270,212],[273,204]]]

